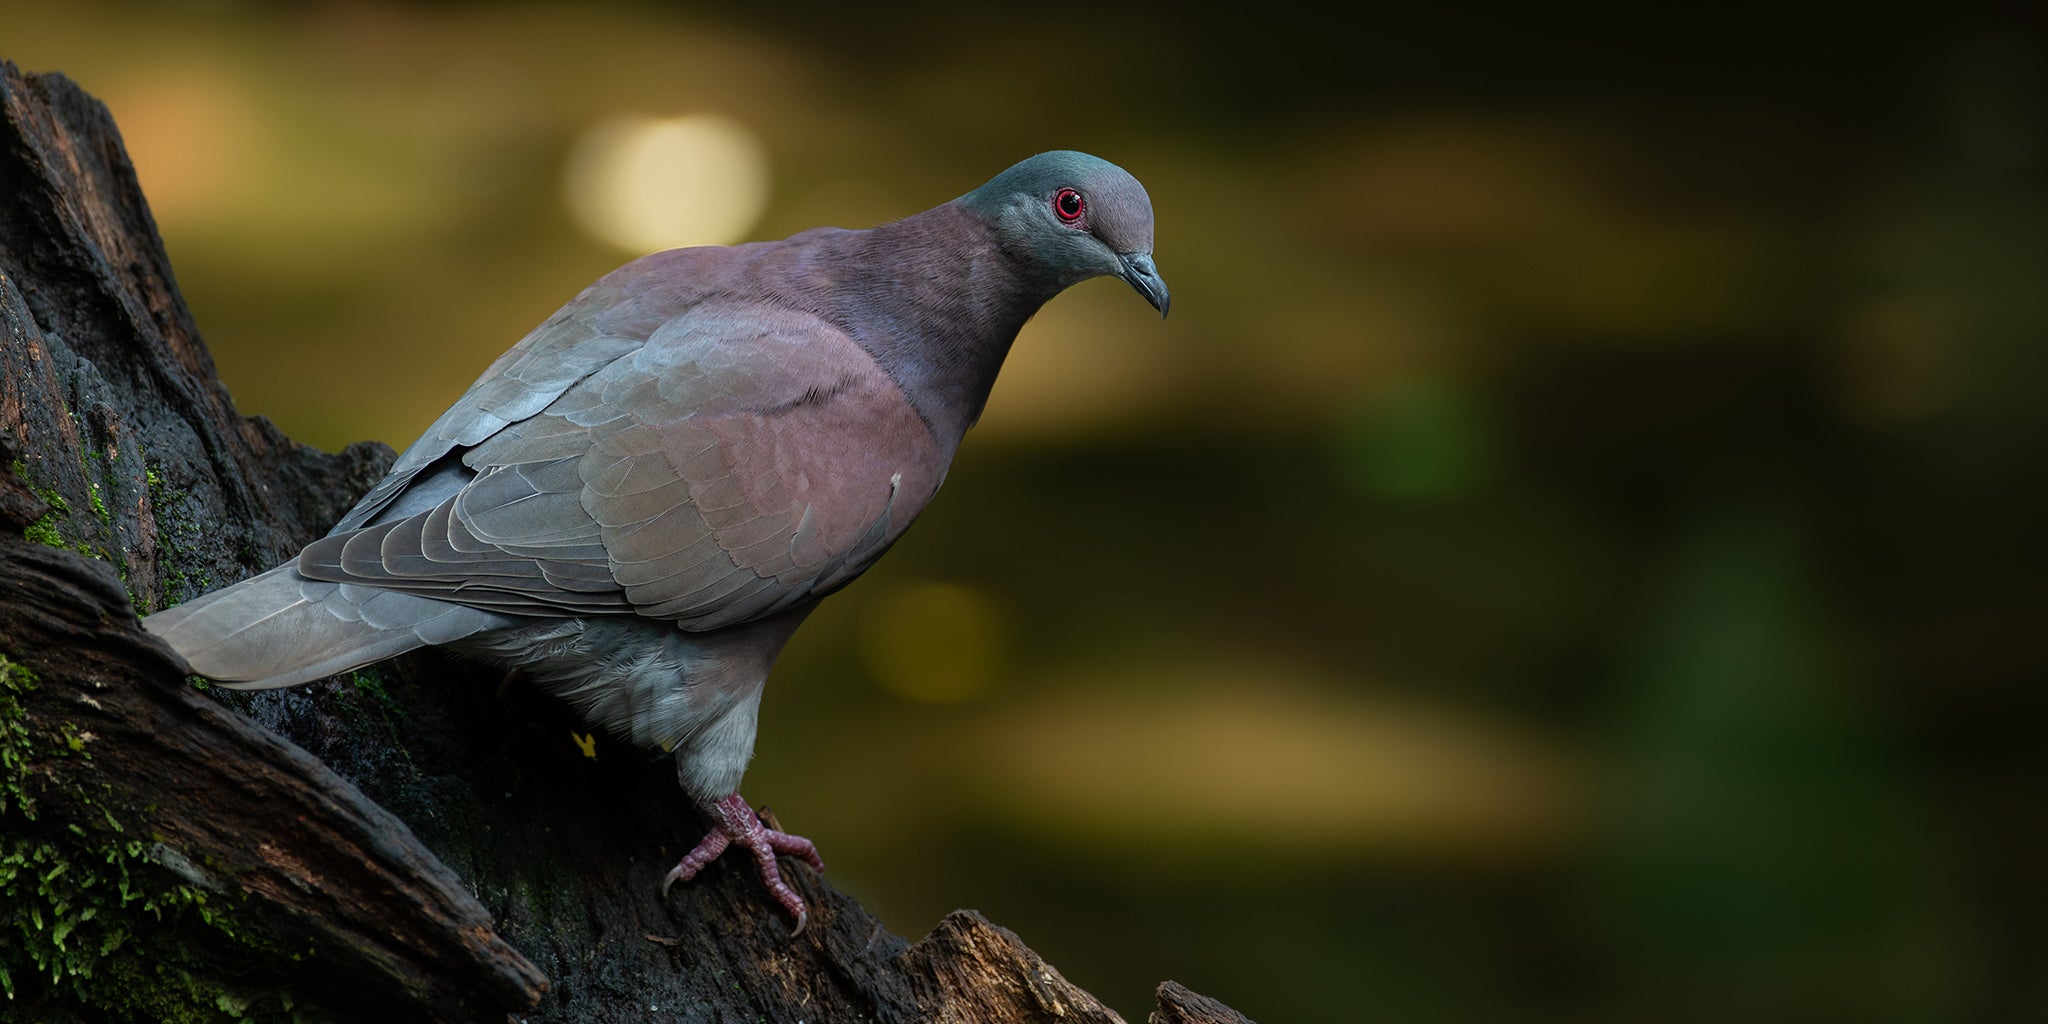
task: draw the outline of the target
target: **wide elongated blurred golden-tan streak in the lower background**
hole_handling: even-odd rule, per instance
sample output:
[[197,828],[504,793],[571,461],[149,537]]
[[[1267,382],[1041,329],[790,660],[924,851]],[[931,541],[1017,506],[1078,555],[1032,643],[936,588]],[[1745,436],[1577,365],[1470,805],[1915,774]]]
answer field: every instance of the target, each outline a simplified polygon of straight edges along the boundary
[[[1161,678],[1171,688],[1128,690]],[[1268,666],[1028,684],[1044,696],[989,731],[975,801],[1077,848],[1143,846],[1153,866],[1364,850],[1513,864],[1583,827],[1589,778],[1567,748],[1454,705],[1341,694]]]

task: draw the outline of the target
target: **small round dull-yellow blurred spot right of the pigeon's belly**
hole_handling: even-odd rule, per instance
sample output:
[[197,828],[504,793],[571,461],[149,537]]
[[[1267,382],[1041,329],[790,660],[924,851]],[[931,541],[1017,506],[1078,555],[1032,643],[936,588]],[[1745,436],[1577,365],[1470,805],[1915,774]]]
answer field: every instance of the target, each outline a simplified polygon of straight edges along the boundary
[[909,584],[868,608],[860,657],[883,690],[922,705],[956,705],[995,684],[1004,627],[989,598],[954,584]]

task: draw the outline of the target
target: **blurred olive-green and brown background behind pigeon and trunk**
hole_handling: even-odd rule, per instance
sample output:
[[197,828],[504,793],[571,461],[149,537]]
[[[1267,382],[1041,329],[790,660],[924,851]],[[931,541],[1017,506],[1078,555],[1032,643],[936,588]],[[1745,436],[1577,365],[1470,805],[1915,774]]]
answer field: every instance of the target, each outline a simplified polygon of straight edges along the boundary
[[106,100],[238,406],[328,449],[631,258],[621,205],[1143,178],[1174,317],[1047,307],[768,688],[748,797],[907,936],[979,907],[1133,1020],[2011,1022],[2044,20],[70,0],[0,55]]

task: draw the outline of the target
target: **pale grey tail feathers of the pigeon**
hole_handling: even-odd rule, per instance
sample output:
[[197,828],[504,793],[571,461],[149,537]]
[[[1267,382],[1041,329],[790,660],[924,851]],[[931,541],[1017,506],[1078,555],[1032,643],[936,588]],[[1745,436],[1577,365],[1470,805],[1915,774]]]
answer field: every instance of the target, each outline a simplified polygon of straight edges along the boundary
[[279,565],[141,621],[193,672],[233,688],[311,682],[520,618],[299,575]]

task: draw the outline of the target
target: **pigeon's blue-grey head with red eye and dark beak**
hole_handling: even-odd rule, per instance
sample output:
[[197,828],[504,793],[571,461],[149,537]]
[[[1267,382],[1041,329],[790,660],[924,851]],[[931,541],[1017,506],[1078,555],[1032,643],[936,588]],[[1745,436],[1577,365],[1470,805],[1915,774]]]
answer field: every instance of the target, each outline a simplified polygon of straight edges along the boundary
[[1124,168],[1073,150],[1038,154],[961,197],[995,227],[1006,252],[1065,289],[1120,276],[1167,311],[1165,281],[1151,258],[1151,197]]

